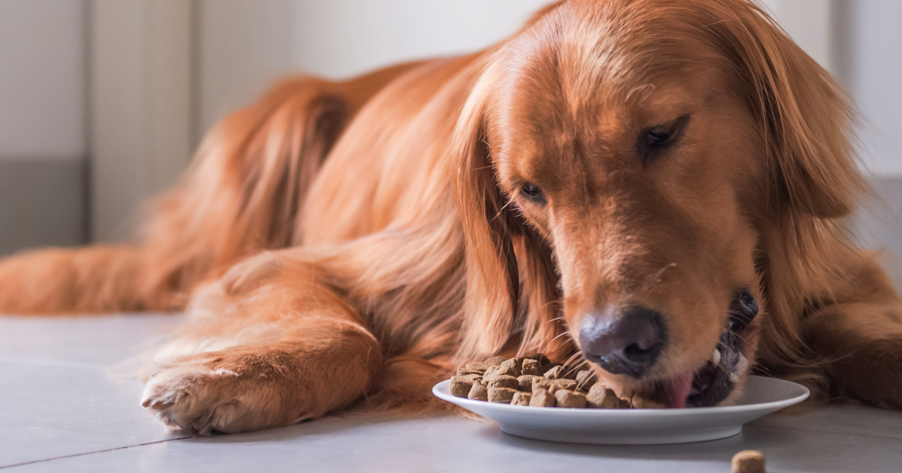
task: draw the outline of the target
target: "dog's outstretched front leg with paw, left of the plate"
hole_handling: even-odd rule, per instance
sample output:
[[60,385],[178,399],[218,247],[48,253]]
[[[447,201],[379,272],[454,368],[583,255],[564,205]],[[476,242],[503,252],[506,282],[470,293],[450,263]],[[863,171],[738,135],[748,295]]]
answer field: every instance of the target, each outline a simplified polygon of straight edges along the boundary
[[380,344],[316,264],[266,253],[201,288],[155,357],[143,405],[192,434],[315,419],[368,392]]

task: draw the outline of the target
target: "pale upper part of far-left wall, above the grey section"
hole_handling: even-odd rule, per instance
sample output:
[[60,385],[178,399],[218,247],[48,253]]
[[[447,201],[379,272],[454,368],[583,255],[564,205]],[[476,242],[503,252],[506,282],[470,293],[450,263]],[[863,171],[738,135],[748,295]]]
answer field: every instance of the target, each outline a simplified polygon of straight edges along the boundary
[[0,0],[0,160],[83,160],[85,3]]

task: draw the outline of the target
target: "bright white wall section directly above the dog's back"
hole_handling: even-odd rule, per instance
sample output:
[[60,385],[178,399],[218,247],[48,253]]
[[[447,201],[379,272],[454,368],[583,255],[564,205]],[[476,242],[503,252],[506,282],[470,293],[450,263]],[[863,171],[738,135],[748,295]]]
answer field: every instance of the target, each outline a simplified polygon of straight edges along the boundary
[[549,0],[200,0],[198,128],[281,75],[343,78],[403,60],[476,51]]

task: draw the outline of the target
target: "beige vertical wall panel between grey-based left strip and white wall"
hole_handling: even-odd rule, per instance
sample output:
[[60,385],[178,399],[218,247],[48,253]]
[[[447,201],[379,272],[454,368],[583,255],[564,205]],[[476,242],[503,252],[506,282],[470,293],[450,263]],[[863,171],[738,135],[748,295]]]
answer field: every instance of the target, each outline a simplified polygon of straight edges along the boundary
[[193,152],[192,3],[92,0],[89,14],[91,236],[115,242]]

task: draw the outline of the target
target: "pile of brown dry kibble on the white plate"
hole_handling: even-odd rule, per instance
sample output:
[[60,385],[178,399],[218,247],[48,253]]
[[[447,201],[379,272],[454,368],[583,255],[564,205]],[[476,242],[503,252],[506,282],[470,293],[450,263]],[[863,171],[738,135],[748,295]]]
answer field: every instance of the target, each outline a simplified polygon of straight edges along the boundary
[[631,407],[629,401],[599,383],[592,370],[567,369],[542,354],[467,363],[451,378],[451,394],[533,407]]

